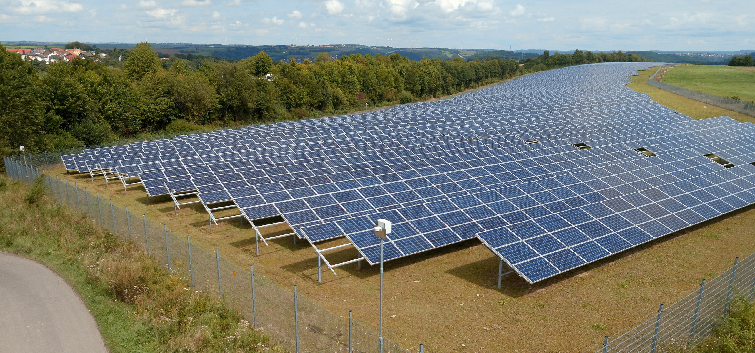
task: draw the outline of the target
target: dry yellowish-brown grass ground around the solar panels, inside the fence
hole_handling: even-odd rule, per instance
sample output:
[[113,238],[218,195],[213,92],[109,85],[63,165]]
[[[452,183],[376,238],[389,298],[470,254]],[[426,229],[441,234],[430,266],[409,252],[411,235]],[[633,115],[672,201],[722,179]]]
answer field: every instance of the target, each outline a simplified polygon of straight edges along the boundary
[[[630,87],[695,119],[728,115],[755,121],[658,91],[646,84],[652,73],[655,68],[633,76]],[[301,294],[334,314],[347,317],[353,310],[356,320],[377,330],[377,266],[359,271],[356,264],[347,265],[337,268],[337,276],[325,268],[318,283],[317,258],[304,241],[273,240],[270,246],[260,245],[257,256],[248,224],[239,226],[238,220],[231,220],[210,233],[207,216],[196,204],[174,215],[168,197],[153,197],[148,205],[141,187],[125,195],[122,187],[106,188],[101,178],[91,183],[85,175],[66,175],[62,169],[51,172],[81,183],[105,200],[112,198],[117,206],[129,206],[137,215],[146,214],[155,224],[168,224],[175,234],[190,235],[205,249],[219,248],[236,265],[253,264],[287,290],[296,284]],[[755,207],[748,207],[532,286],[507,275],[501,290],[496,288],[498,258],[478,240],[387,262],[386,336],[412,351],[424,343],[427,351],[434,352],[582,352],[602,343],[603,336],[623,333],[655,312],[658,303],[674,302],[697,289],[701,278],[729,268],[735,256],[755,251],[753,220]],[[322,249],[341,243],[347,240],[318,245]],[[347,248],[328,253],[328,259],[341,262],[356,255],[356,249]],[[396,317],[390,317],[393,314]]]

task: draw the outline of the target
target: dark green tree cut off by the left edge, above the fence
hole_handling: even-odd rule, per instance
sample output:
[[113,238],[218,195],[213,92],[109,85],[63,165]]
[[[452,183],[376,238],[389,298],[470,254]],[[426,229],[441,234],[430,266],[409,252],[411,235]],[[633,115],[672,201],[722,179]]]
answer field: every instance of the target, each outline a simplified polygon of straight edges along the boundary
[[[45,124],[45,100],[35,69],[0,45],[0,147],[39,150]],[[3,153],[5,154],[5,153]]]

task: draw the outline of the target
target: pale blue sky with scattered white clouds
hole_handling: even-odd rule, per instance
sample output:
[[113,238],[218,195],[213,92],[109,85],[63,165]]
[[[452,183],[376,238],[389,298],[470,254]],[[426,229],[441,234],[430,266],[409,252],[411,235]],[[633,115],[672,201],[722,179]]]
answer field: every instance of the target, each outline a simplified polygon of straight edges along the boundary
[[0,0],[0,39],[736,51],[752,0]]

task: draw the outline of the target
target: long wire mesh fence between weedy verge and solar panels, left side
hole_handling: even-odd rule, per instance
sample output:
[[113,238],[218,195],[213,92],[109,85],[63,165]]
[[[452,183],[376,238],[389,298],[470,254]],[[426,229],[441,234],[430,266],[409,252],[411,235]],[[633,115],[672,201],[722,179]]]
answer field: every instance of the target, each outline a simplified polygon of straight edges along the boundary
[[[28,157],[28,155],[27,155]],[[57,157],[57,155],[56,155]],[[5,158],[8,176],[27,184],[40,175],[39,167]],[[77,183],[45,176],[49,195],[63,205],[85,212],[106,231],[118,237],[134,240],[144,252],[153,255],[171,272],[190,280],[193,290],[220,296],[236,308],[254,327],[262,327],[281,345],[294,352],[359,352],[381,353],[378,334],[351,319],[344,320],[315,302],[300,296],[296,289],[283,290],[254,271],[240,268],[220,257],[217,249],[208,252],[168,231],[165,224],[157,225],[145,215],[112,205],[111,200],[82,190]],[[382,352],[408,353],[404,348],[383,339]]]

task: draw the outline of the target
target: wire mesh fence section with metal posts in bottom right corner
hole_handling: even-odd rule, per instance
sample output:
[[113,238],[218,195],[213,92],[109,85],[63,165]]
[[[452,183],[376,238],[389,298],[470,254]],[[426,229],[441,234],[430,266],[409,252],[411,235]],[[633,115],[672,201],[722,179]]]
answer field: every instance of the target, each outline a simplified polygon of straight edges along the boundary
[[606,336],[596,353],[655,353],[680,344],[695,347],[710,336],[717,319],[726,315],[729,302],[738,296],[750,300],[755,296],[755,254],[735,259],[732,268],[713,280],[702,280],[698,290],[673,304],[661,304],[658,312],[621,336]]

